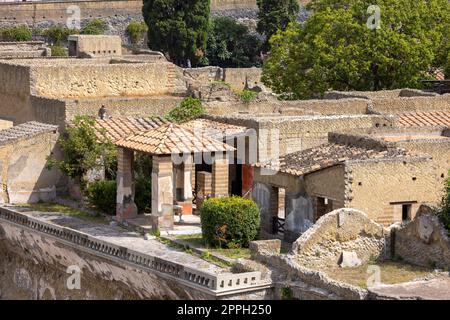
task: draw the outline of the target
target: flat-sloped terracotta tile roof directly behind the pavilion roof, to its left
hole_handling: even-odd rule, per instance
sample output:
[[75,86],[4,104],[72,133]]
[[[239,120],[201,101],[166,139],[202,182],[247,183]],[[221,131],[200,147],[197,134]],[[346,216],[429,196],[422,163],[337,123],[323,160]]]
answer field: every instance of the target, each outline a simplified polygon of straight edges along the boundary
[[106,136],[112,142],[116,142],[130,135],[158,128],[167,123],[168,121],[161,117],[110,117],[96,119],[95,128],[99,139]]

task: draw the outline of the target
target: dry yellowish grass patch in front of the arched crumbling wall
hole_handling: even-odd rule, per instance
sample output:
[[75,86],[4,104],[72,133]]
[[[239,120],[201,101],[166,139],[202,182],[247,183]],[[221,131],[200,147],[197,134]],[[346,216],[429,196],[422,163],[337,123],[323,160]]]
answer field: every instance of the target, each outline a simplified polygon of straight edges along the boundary
[[[423,278],[433,272],[432,269],[413,266],[399,261],[374,262],[373,265],[380,267],[381,282],[383,284],[399,284],[414,279]],[[367,280],[373,276],[368,273],[369,264],[356,268],[328,267],[324,271],[332,279],[346,282],[367,289]]]

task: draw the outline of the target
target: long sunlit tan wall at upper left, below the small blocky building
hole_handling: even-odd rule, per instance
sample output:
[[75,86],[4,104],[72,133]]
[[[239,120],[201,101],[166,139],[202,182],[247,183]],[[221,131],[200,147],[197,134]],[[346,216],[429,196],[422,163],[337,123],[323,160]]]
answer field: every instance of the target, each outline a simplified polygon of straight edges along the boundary
[[113,63],[68,59],[30,62],[31,92],[49,98],[171,95],[186,92],[180,68],[169,62]]

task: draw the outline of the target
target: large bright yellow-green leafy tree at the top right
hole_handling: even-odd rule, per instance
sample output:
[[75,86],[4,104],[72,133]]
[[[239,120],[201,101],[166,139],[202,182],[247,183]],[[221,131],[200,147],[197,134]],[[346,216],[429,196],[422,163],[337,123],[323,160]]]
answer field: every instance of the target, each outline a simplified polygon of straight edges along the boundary
[[304,24],[291,23],[271,38],[264,83],[300,99],[328,89],[417,87],[431,67],[449,60],[447,0],[377,1],[379,25],[368,13],[372,4],[312,0],[313,13]]

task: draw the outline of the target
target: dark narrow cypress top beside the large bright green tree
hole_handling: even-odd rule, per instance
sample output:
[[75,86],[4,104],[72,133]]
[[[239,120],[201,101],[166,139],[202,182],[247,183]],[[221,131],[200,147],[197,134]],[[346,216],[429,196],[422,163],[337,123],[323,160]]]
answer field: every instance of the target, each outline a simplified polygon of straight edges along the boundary
[[[257,0],[258,32],[266,36],[267,41],[278,30],[285,30],[290,22],[297,18],[300,6],[298,0]],[[268,42],[265,49],[268,50]]]

